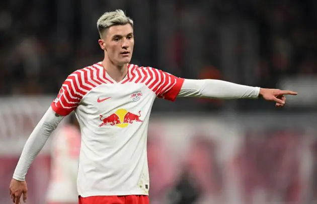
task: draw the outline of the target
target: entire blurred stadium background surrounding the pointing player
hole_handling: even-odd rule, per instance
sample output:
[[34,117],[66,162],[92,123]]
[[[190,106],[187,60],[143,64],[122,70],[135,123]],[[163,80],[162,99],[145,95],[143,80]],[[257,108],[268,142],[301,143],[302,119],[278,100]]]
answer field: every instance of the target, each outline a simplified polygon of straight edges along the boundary
[[[317,1],[0,2],[0,203],[23,145],[66,76],[103,58],[96,21],[134,20],[132,63],[184,78],[298,91],[262,100],[157,99],[148,135],[151,203],[317,203]],[[27,176],[45,203],[50,141]]]

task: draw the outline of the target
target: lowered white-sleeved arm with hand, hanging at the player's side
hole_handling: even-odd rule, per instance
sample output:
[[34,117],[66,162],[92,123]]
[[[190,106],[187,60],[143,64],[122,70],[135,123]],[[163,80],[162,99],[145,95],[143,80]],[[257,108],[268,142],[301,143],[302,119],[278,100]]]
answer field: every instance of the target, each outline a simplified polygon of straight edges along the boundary
[[31,133],[23,148],[21,157],[10,184],[10,194],[13,202],[19,203],[22,193],[23,200],[26,200],[27,186],[25,182],[25,175],[33,160],[43,148],[48,137],[52,134],[53,130],[57,127],[62,119],[63,116],[56,114],[52,108],[49,107]]

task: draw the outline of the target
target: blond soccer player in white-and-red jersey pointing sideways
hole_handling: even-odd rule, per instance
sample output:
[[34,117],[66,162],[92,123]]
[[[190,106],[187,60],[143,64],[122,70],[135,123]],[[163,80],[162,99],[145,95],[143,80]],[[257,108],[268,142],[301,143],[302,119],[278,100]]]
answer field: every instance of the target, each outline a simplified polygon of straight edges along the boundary
[[77,189],[81,204],[148,203],[146,135],[156,97],[256,98],[285,104],[296,92],[221,80],[178,78],[129,64],[133,21],[117,10],[97,22],[104,60],[71,73],[25,144],[10,184],[13,202],[27,198],[25,175],[62,118],[75,111],[81,127]]

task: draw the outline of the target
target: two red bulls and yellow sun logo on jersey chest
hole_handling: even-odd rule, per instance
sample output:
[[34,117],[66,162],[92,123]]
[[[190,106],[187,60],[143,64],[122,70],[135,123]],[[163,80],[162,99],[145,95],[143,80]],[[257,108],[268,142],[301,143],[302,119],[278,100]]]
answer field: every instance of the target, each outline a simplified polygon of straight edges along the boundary
[[131,112],[128,112],[125,109],[119,109],[114,114],[111,114],[107,117],[100,115],[100,120],[102,121],[102,123],[99,125],[99,127],[111,125],[118,126],[120,128],[125,128],[129,124],[132,124],[134,122],[143,122],[142,120],[140,120],[140,117],[141,111],[139,111],[138,115],[136,115]]

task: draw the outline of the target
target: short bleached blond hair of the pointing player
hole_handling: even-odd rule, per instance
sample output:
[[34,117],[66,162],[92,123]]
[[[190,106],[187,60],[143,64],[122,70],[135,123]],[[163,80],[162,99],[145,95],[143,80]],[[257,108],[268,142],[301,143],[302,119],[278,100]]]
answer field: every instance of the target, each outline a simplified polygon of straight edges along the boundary
[[130,24],[133,27],[133,21],[127,17],[121,9],[113,12],[104,13],[97,21],[97,28],[99,35],[110,28],[111,26]]

